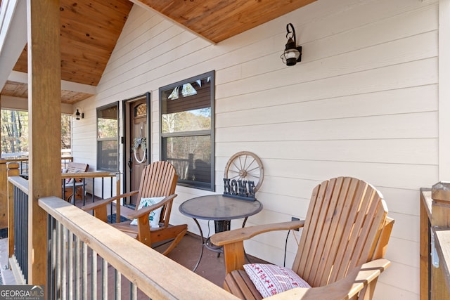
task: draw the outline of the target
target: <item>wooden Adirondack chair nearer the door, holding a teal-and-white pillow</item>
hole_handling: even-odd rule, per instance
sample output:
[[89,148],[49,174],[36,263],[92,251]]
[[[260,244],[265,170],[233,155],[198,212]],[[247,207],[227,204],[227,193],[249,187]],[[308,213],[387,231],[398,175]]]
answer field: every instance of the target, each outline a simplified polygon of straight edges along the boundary
[[[172,243],[169,244],[169,247],[163,252],[163,254],[167,255],[174,249],[176,244],[181,241],[181,238],[184,237],[188,230],[187,224],[177,226],[169,224],[172,202],[176,197],[176,194],[174,193],[177,178],[178,176],[176,175],[175,168],[172,164],[169,162],[153,162],[143,169],[139,190],[96,201],[82,207],[82,209],[84,211],[94,210],[94,216],[106,222],[108,203],[137,194],[138,203],[136,204],[135,210],[128,209],[127,207],[120,207],[120,214],[129,220],[137,219],[137,226],[131,225],[131,221],[113,223],[111,225],[122,230],[124,233],[135,237],[149,247],[155,246],[155,243],[172,240]],[[163,196],[165,198],[157,204],[138,209],[139,202],[141,202],[142,198]],[[148,220],[150,212],[155,211],[155,209],[160,207],[162,207],[159,220],[160,227],[150,228],[150,222]],[[117,221],[120,220],[118,215],[116,219]]]

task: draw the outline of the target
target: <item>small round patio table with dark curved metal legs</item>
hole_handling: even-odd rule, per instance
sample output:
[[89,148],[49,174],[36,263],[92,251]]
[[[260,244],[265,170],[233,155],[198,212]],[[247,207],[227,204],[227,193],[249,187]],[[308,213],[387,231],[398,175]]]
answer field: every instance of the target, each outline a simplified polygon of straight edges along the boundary
[[200,264],[203,256],[203,247],[207,247],[212,251],[219,251],[214,245],[210,244],[209,238],[204,241],[203,231],[197,219],[213,220],[215,223],[216,233],[220,231],[229,230],[229,222],[233,219],[244,218],[242,227],[245,226],[249,216],[259,213],[262,210],[262,203],[258,200],[247,201],[239,200],[231,197],[224,197],[223,195],[207,195],[195,197],[183,202],[179,206],[179,211],[185,216],[191,217],[200,231],[202,239],[202,247],[200,256],[198,258],[193,271],[195,271]]

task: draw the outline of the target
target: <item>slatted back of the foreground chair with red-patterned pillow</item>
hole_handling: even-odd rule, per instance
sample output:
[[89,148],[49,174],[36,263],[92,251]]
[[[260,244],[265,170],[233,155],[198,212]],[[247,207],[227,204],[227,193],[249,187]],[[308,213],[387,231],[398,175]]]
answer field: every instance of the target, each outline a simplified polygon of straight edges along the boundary
[[311,195],[293,270],[313,287],[344,278],[380,253],[386,217],[372,185],[351,177],[323,181]]

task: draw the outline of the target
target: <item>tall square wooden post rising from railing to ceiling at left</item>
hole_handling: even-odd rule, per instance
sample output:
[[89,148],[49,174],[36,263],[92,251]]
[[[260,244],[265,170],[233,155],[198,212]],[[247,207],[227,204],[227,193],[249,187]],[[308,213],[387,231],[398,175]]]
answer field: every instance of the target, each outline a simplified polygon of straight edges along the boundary
[[47,214],[41,197],[61,194],[61,70],[59,0],[27,0],[30,130],[28,278],[46,286]]

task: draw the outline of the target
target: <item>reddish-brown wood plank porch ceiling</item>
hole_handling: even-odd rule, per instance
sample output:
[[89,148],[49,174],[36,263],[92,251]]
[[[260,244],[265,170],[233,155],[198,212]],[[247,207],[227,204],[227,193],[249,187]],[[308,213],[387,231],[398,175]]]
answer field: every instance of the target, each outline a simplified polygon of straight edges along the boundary
[[[133,1],[219,43],[316,0]],[[132,6],[128,0],[60,0],[61,79],[97,86]],[[27,72],[27,46],[13,70]],[[27,98],[27,84],[7,81],[1,95]],[[62,91],[61,102],[77,103],[89,96]]]

